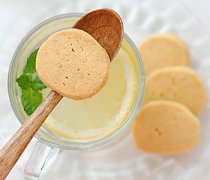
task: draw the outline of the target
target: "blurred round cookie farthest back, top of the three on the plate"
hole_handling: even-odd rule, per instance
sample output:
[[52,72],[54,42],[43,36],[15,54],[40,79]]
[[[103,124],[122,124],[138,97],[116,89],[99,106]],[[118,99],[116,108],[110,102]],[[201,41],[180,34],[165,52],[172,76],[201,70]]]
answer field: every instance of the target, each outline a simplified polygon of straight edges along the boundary
[[171,34],[157,34],[139,47],[146,75],[169,66],[188,66],[190,57],[186,45]]

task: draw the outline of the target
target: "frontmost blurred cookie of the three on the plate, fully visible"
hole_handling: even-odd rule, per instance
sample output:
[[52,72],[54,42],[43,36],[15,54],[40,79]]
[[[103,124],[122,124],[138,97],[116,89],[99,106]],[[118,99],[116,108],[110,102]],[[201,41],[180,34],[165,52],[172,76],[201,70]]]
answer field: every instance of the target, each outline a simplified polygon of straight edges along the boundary
[[139,149],[171,155],[191,150],[198,142],[199,120],[182,104],[153,101],[135,119],[133,135]]

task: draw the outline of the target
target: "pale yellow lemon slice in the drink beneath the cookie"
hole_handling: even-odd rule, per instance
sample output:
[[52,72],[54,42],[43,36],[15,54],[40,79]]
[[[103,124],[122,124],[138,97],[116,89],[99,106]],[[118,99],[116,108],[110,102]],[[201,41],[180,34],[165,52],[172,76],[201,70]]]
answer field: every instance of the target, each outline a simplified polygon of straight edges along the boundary
[[[102,138],[117,129],[128,116],[134,101],[134,67],[120,51],[111,63],[104,88],[92,98],[63,98],[45,122],[51,132],[75,140]],[[49,90],[44,90],[46,96]]]

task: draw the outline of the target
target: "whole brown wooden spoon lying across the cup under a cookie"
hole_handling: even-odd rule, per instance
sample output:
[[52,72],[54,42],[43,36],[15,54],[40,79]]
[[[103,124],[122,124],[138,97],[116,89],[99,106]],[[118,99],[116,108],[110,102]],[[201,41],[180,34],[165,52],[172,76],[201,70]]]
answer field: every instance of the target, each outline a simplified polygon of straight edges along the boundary
[[[120,16],[113,10],[99,9],[92,11],[82,17],[73,27],[92,35],[107,51],[111,60],[118,53],[124,31]],[[28,143],[62,98],[61,95],[52,90],[36,111],[0,150],[0,179],[6,178]]]

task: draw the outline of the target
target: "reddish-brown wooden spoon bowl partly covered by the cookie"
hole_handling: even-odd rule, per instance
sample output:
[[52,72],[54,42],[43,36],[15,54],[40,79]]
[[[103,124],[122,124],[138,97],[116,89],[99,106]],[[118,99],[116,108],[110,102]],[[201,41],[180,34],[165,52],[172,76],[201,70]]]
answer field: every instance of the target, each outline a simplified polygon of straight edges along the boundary
[[106,50],[110,60],[118,53],[123,40],[123,22],[111,9],[99,9],[83,16],[74,25],[93,36]]

